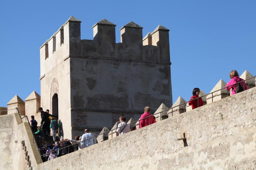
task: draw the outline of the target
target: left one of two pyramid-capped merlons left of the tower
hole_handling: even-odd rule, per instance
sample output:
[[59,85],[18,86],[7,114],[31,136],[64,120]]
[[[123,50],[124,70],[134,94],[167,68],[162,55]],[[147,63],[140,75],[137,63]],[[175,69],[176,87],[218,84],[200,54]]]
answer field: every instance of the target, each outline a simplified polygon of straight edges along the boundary
[[7,114],[16,113],[17,112],[17,110],[15,109],[16,107],[18,108],[20,115],[25,116],[25,102],[18,95],[15,95],[7,103],[7,108],[8,108]]

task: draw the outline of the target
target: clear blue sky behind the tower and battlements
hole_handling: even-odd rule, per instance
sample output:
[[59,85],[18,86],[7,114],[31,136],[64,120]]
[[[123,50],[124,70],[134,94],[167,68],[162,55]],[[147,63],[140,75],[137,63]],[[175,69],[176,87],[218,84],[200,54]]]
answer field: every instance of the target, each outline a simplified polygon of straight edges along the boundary
[[256,1],[0,1],[0,106],[17,94],[40,94],[39,47],[73,15],[81,38],[92,39],[102,18],[119,29],[129,21],[143,36],[159,24],[170,29],[173,102],[189,100],[194,87],[209,93],[228,74],[256,75]]

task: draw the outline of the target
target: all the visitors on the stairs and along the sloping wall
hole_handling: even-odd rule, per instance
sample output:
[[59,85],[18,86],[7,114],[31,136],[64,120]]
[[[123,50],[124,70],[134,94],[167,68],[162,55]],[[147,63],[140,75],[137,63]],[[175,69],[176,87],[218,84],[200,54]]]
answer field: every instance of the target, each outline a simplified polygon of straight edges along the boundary
[[[238,72],[236,70],[232,70],[229,74],[231,78],[228,84],[226,85],[226,90],[232,89],[232,95],[247,90],[248,87],[245,82],[238,83],[243,81],[244,79],[239,78]],[[236,84],[238,83],[238,84]],[[235,85],[236,84],[236,85]],[[191,105],[192,109],[197,107],[201,107],[204,105],[204,102],[200,95],[200,89],[194,88],[192,92],[192,97],[190,98],[188,104]],[[195,100],[196,99],[196,100]],[[41,123],[40,126],[37,128],[37,122],[34,116],[31,116],[31,128],[32,131],[38,135],[39,139],[39,147],[40,151],[43,152],[42,155],[46,154],[45,160],[52,160],[62,155],[83,149],[85,147],[91,146],[96,144],[95,136],[89,132],[88,129],[84,130],[84,134],[80,137],[78,135],[75,136],[75,139],[64,139],[60,138],[60,141],[56,141],[56,134],[58,133],[58,129],[60,124],[57,122],[58,116],[51,115],[49,110],[47,109],[46,112],[43,111],[42,107],[38,109],[41,112]],[[124,116],[119,117],[119,124],[116,129],[116,132],[120,135],[124,135],[132,130],[133,127],[127,125],[126,118]],[[150,107],[144,108],[144,113],[140,116],[139,119],[139,128],[143,128],[150,124],[156,122],[155,116],[150,113]],[[52,136],[54,144],[43,143],[44,139],[50,136],[50,129],[52,129]],[[136,129],[136,128],[135,128]],[[44,160],[44,159],[43,159]]]

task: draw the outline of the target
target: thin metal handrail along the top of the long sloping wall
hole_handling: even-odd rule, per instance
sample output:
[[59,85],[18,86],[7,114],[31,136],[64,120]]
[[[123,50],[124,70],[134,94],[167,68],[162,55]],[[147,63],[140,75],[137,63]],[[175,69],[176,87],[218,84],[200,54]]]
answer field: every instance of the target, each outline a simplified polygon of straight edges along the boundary
[[[221,91],[221,90],[223,90],[223,89],[228,89],[228,87],[230,87],[230,86],[237,85],[238,83],[245,82],[245,81],[247,81],[247,80],[249,80],[249,79],[252,79],[252,78],[256,78],[256,76],[253,76],[253,77],[248,78],[248,79],[246,79],[246,80],[237,82],[237,83],[232,84],[232,85],[229,85],[229,86],[227,86],[227,87],[225,87],[225,88],[222,88],[222,89],[219,89],[219,90],[216,90],[216,91],[214,91],[214,92],[209,93],[209,94],[212,94],[212,102],[213,102],[213,93],[218,92],[218,91]],[[208,96],[209,94],[205,94],[204,96]],[[228,95],[228,90],[227,90],[227,95]],[[197,104],[198,104],[199,98],[202,98],[202,97],[204,97],[204,96],[195,98],[195,99],[193,99],[193,100],[197,100]],[[165,109],[165,110],[163,110],[163,111],[161,111],[161,112],[158,112],[158,113],[155,113],[155,114],[153,114],[153,115],[147,116],[147,117],[145,117],[145,118],[143,118],[143,119],[149,118],[149,124],[150,124],[150,117],[153,117],[154,115],[160,114],[160,121],[161,121],[161,114],[162,114],[163,112],[169,111],[169,110],[171,110],[171,109],[172,109],[172,112],[173,112],[173,108],[179,107],[179,106],[182,106],[182,105],[185,105],[185,111],[186,111],[186,103],[188,103],[188,102],[190,102],[190,101],[193,101],[193,100],[186,101],[186,102],[184,102],[184,103],[181,103],[180,105],[177,105],[177,106],[174,106],[174,107]],[[140,120],[131,122],[131,123],[126,124],[126,125],[134,124],[135,122],[141,121],[141,120],[143,120],[143,119],[140,119]],[[126,125],[124,125],[124,126],[126,126]],[[124,126],[121,126],[121,127],[124,127]],[[121,127],[120,127],[120,128],[121,128]],[[118,129],[118,128],[116,128],[116,129]],[[111,129],[111,130],[109,130],[109,131],[107,131],[107,132],[103,132],[103,133],[101,133],[101,134],[99,134],[99,135],[96,135],[96,136],[94,136],[94,137],[98,137],[98,136],[100,136],[100,135],[103,135],[103,141],[104,141],[104,134],[105,134],[105,133],[112,132],[111,135],[112,135],[112,137],[113,137],[113,131],[114,131],[114,130],[116,131],[116,129]],[[94,138],[94,137],[90,137],[90,138],[88,138],[88,139],[85,139],[85,140],[83,140],[83,141],[77,142],[77,143],[75,143],[75,144],[81,143],[81,146],[82,146],[82,142],[86,142],[86,141],[88,140],[88,143],[89,143],[89,139],[92,139],[92,138]],[[64,148],[68,148],[68,152],[69,152],[69,146],[73,146],[73,145],[75,145],[75,144],[68,145],[68,146],[66,146],[66,147],[61,148],[60,150],[63,150]],[[84,148],[85,148],[85,147],[84,147]],[[52,151],[52,152],[56,152],[56,151]],[[41,155],[41,156],[45,156],[45,155],[51,154],[52,152],[46,153],[46,154]],[[45,156],[45,159],[46,159],[46,156]],[[42,159],[41,159],[41,161],[42,161]]]

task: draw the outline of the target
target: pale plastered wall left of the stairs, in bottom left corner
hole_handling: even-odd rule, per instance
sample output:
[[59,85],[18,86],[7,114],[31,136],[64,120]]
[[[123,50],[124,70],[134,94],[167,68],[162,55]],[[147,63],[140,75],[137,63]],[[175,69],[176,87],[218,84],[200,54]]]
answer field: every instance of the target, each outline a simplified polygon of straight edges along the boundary
[[[24,120],[25,121],[25,120]],[[3,169],[28,169],[21,141],[25,141],[31,166],[40,163],[40,154],[33,143],[33,135],[28,122],[21,122],[18,113],[0,116],[0,167]]]

